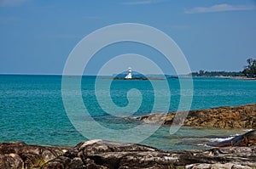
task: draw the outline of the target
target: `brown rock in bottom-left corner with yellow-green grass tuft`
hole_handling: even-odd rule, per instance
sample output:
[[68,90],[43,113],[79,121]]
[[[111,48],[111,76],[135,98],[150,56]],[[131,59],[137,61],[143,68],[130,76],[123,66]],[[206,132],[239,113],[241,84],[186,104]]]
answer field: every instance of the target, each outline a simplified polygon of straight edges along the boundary
[[28,145],[23,142],[0,144],[0,169],[34,168],[64,154],[70,147]]

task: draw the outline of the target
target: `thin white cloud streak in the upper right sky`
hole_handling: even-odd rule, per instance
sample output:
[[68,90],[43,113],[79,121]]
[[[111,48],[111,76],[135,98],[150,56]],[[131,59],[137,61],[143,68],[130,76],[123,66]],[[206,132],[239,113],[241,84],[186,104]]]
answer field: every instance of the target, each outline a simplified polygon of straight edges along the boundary
[[253,10],[256,9],[254,5],[230,5],[230,4],[217,4],[211,7],[196,7],[185,9],[186,14],[196,13],[212,13],[212,12],[223,12],[223,11],[238,11],[238,10]]

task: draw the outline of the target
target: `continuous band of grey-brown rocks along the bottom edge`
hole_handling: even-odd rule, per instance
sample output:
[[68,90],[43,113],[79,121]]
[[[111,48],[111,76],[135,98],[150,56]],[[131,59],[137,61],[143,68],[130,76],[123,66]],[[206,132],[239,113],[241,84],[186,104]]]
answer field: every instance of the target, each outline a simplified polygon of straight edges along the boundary
[[[75,147],[29,145],[22,142],[0,144],[1,169],[115,169],[115,168],[227,168],[256,167],[256,131],[240,138],[236,147],[164,151],[141,144],[90,140]],[[230,144],[225,144],[230,146]]]

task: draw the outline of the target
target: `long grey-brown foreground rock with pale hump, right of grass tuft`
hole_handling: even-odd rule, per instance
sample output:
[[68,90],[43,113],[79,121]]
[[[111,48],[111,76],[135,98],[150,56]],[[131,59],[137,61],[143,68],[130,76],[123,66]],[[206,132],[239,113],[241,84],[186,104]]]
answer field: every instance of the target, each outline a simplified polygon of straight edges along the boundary
[[255,147],[171,152],[140,144],[91,140],[42,168],[252,168],[255,159]]

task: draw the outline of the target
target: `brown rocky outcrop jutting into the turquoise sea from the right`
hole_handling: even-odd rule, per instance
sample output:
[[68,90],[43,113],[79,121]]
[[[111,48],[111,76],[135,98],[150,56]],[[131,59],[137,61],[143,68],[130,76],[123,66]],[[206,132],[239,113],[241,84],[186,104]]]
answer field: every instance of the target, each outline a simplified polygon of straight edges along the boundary
[[[167,114],[150,114],[133,118],[133,120],[171,125],[176,115],[178,118],[178,116],[183,116],[184,113],[186,112],[180,111]],[[190,110],[183,125],[190,127],[256,129],[256,104],[247,104],[236,107],[218,107],[206,110]]]

